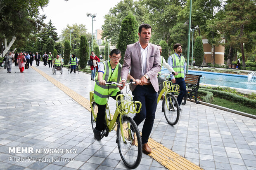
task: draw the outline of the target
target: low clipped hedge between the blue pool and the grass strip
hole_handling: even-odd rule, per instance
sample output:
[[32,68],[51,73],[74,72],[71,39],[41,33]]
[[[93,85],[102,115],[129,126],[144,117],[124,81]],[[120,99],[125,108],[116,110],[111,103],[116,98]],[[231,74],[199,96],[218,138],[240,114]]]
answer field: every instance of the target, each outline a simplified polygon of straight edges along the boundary
[[224,98],[226,100],[230,100],[233,102],[239,102],[239,103],[242,103],[244,106],[249,106],[251,108],[256,108],[256,100],[245,98],[245,97],[236,95],[234,93],[228,93],[225,91],[218,91],[218,90],[213,90],[213,89],[208,89],[203,87],[200,87],[200,88],[201,90],[210,91],[213,93],[213,95],[218,96],[220,98]]

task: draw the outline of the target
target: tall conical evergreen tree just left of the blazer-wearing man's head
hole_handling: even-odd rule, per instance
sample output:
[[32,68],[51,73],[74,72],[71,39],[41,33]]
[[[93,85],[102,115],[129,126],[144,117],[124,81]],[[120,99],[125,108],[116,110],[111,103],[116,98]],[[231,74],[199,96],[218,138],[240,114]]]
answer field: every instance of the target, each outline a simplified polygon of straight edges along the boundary
[[138,23],[135,16],[132,14],[128,14],[122,21],[119,39],[116,46],[116,48],[121,51],[121,56],[123,56],[119,61],[121,64],[123,64],[127,45],[133,44],[138,40],[137,27]]

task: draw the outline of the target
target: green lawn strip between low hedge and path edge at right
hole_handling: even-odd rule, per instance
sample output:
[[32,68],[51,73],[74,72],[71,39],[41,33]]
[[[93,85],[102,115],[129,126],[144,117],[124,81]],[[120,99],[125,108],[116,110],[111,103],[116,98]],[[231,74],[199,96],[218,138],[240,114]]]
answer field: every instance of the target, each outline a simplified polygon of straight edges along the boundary
[[245,113],[256,115],[256,109],[253,109],[253,108],[250,108],[247,106],[243,106],[241,103],[232,102],[232,101],[225,100],[225,99],[218,98],[218,97],[214,97],[214,100],[213,100],[213,102],[211,102],[211,104],[222,106],[222,107],[227,107],[229,109],[234,109],[234,110],[237,110],[240,112],[245,112]]

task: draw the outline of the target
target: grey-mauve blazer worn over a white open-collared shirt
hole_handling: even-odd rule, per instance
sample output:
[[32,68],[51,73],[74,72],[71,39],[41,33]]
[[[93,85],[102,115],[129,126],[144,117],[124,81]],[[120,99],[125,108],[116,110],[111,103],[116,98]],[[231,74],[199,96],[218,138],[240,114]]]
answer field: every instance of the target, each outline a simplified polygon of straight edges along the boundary
[[[127,79],[130,70],[130,75],[135,79],[140,79],[142,71],[142,59],[140,54],[140,44],[135,42],[129,44],[126,49],[126,54],[123,59],[123,67],[121,72],[121,79]],[[159,90],[157,73],[161,70],[160,52],[159,47],[149,43],[147,50],[147,74],[150,78],[150,82],[153,85],[155,91]],[[135,89],[135,85],[131,86],[131,91]]]

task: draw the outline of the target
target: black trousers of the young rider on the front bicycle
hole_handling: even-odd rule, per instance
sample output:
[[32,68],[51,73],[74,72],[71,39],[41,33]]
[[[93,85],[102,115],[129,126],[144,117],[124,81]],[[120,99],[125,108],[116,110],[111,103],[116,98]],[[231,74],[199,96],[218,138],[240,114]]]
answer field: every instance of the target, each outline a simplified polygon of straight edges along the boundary
[[[120,91],[116,93],[116,95],[121,94]],[[110,96],[114,100],[116,100],[116,95],[115,96]],[[96,103],[96,102],[95,102]],[[99,105],[96,103],[98,106],[98,113],[97,113],[97,118],[96,118],[96,127],[95,129],[98,131],[103,131],[104,130],[104,119],[105,119],[105,114],[106,114],[106,105]]]

